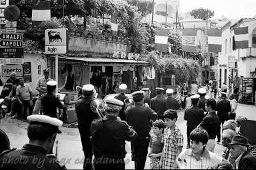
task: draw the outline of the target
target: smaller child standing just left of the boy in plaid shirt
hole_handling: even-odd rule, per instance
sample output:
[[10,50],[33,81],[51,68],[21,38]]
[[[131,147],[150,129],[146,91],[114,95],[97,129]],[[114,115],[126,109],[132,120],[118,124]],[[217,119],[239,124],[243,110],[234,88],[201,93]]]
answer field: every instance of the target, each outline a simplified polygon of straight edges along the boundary
[[153,134],[149,141],[150,153],[148,154],[148,157],[150,158],[150,169],[160,169],[159,162],[164,146],[161,142],[164,128],[165,125],[163,120],[156,120],[153,123]]

